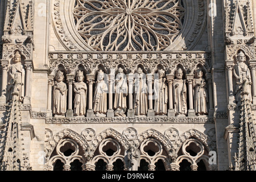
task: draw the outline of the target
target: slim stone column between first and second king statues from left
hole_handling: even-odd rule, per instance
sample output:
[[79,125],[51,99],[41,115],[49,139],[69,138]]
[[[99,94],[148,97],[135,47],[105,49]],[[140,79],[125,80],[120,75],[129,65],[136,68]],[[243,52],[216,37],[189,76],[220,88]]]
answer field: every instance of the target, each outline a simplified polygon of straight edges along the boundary
[[67,82],[68,82],[68,110],[66,113],[66,117],[73,117],[73,83],[75,81],[75,75],[67,75]]

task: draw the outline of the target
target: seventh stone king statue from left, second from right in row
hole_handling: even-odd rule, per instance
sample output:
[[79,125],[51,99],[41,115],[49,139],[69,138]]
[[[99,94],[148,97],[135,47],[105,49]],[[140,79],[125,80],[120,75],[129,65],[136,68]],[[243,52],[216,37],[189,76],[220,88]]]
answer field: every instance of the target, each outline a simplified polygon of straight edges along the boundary
[[176,116],[182,117],[187,114],[187,86],[186,81],[182,79],[183,71],[181,68],[176,71],[175,76],[173,84],[174,111]]

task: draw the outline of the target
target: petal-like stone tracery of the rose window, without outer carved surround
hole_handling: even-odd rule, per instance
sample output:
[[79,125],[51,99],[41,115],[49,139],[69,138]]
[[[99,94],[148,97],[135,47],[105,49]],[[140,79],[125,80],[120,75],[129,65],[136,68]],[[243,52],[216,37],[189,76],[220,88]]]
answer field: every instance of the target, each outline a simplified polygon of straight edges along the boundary
[[82,39],[98,51],[162,51],[183,29],[181,0],[76,0]]

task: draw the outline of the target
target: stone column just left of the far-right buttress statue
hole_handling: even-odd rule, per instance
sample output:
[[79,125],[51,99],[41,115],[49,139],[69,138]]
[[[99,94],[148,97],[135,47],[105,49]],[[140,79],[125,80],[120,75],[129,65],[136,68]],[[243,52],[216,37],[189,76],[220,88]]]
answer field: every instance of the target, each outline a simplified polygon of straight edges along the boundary
[[233,91],[233,60],[226,60],[226,71],[228,72],[228,96],[229,104],[235,104],[234,91]]

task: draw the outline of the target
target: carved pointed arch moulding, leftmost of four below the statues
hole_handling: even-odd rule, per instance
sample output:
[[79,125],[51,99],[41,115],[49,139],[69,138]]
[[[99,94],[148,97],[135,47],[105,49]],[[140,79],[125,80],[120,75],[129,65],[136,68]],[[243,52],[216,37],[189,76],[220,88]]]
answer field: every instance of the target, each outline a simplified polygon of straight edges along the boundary
[[59,133],[53,135],[53,137],[46,142],[46,148],[45,148],[46,162],[48,162],[53,150],[55,149],[57,144],[60,142],[60,140],[65,137],[75,140],[81,146],[83,152],[85,152],[86,148],[89,147],[89,144],[86,142],[86,139],[82,137],[82,135],[76,133],[71,129],[64,129]]

